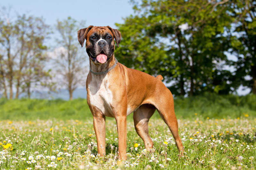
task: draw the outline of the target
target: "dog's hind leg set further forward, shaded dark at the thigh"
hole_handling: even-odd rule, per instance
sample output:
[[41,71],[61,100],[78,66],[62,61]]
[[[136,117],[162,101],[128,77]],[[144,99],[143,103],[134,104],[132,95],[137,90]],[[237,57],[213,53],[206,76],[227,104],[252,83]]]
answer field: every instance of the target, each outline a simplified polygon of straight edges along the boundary
[[148,134],[148,121],[154,114],[156,108],[149,104],[141,105],[133,113],[134,127],[137,134],[144,141],[145,148],[149,151],[153,147],[153,142]]

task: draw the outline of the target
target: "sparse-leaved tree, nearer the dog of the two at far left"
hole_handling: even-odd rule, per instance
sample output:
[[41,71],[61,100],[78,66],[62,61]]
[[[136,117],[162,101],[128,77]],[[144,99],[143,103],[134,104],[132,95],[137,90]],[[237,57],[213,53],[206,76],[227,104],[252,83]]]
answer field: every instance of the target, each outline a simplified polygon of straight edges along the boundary
[[18,16],[15,25],[19,45],[16,62],[16,98],[20,94],[20,87],[22,87],[21,90],[27,92],[30,98],[32,82],[41,82],[43,77],[50,77],[49,70],[44,70],[47,58],[43,54],[47,49],[44,41],[49,34],[48,28],[43,18],[27,17],[25,14]]

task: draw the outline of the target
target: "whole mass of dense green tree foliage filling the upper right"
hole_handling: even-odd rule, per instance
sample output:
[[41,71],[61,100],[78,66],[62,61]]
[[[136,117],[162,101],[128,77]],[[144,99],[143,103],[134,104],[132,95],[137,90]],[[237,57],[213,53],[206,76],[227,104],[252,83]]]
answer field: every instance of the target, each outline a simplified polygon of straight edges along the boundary
[[[132,1],[135,14],[116,24],[116,56],[128,67],[172,82],[174,94],[255,89],[255,1]],[[237,56],[227,59],[225,52]],[[236,75],[223,69],[235,66]],[[246,75],[251,79],[244,78]]]

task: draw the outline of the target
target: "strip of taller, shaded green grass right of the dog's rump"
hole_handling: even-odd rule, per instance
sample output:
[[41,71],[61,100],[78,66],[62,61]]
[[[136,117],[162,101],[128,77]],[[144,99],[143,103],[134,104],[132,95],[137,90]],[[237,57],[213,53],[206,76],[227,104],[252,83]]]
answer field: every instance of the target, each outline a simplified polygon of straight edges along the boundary
[[204,93],[204,95],[174,99],[176,116],[192,118],[237,118],[244,115],[256,116],[256,96],[217,95]]

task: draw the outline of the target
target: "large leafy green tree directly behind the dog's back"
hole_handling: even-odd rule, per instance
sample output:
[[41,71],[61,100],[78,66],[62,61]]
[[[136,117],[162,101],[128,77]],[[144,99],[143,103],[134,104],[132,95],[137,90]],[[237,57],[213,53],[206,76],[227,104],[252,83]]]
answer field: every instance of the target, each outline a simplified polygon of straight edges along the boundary
[[227,0],[132,2],[136,15],[116,24],[123,38],[116,50],[120,62],[162,74],[172,82],[174,94],[232,91],[233,82],[220,81],[232,74],[217,70],[227,60],[224,51],[229,47],[225,29],[232,19],[226,13]]

